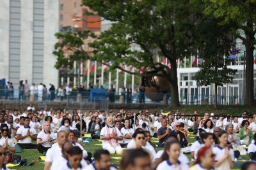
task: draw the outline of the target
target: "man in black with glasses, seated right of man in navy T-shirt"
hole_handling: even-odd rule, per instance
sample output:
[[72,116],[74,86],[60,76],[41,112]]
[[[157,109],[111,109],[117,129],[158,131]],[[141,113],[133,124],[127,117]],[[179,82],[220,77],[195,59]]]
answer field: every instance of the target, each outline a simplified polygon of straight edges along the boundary
[[177,139],[180,142],[180,145],[182,148],[185,148],[188,146],[188,141],[184,133],[180,132],[180,122],[174,123],[174,130],[169,132],[167,138],[169,138],[170,136],[177,136]]

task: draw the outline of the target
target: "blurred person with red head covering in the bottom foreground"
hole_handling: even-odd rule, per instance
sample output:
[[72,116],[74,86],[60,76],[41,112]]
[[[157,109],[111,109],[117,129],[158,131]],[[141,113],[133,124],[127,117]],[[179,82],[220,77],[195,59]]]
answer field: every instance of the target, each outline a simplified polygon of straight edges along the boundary
[[213,170],[214,169],[215,155],[212,153],[210,146],[204,146],[198,150],[198,157],[195,162],[192,163],[189,170]]

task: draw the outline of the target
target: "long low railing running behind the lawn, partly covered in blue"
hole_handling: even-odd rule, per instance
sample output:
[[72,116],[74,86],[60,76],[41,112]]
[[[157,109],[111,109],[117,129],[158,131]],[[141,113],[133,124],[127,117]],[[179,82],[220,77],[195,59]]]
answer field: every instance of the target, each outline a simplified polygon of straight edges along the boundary
[[[67,95],[65,90],[60,94],[58,90],[51,92],[26,92],[24,90],[0,89],[1,101],[58,101],[67,103],[100,103],[102,107],[109,103],[125,104],[163,104],[166,97],[168,103],[172,101],[171,94],[167,93],[140,93],[135,92],[131,95],[115,94],[115,92],[106,92],[106,97],[90,97],[88,91],[72,91]],[[108,100],[108,102],[106,101]],[[214,104],[214,95],[203,94],[179,94],[180,104]],[[243,105],[243,96],[217,96],[217,103],[220,105]]]

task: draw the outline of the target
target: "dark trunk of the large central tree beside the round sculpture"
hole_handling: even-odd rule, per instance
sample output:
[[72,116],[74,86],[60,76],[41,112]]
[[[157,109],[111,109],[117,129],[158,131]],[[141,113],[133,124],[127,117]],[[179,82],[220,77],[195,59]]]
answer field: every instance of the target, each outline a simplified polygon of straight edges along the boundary
[[175,64],[172,64],[170,73],[171,73],[171,78],[172,78],[172,82],[170,82],[170,84],[171,84],[171,94],[172,94],[171,106],[173,108],[177,108],[177,107],[180,106],[180,101],[179,101],[179,89],[178,89],[178,78],[177,78],[176,62],[175,62]]

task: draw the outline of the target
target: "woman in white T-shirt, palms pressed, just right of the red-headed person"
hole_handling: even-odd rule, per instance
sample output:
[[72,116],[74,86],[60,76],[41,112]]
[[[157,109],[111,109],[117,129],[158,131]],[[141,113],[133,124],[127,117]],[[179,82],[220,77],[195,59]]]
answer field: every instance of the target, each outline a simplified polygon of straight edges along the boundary
[[218,140],[220,144],[216,146],[212,151],[215,156],[215,169],[231,169],[234,167],[234,151],[227,147],[228,133],[221,131],[218,134]]

